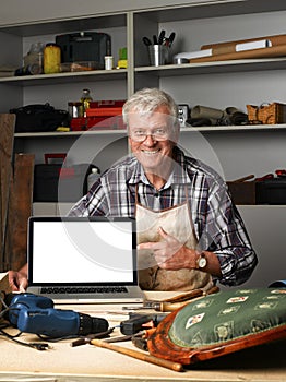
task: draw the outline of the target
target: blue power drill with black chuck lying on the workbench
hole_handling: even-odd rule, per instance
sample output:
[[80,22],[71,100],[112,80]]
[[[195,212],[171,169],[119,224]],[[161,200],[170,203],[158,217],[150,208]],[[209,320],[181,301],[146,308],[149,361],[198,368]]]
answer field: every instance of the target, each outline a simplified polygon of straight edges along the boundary
[[53,301],[33,294],[9,294],[8,321],[21,332],[58,338],[105,332],[108,322],[73,310],[55,309]]

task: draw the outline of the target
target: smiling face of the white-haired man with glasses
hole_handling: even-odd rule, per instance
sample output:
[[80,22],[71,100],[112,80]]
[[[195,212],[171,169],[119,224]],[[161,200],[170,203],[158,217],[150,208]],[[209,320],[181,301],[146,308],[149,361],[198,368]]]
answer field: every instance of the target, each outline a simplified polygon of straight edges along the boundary
[[145,172],[159,175],[165,166],[170,166],[178,133],[179,128],[165,106],[154,112],[129,114],[129,144]]

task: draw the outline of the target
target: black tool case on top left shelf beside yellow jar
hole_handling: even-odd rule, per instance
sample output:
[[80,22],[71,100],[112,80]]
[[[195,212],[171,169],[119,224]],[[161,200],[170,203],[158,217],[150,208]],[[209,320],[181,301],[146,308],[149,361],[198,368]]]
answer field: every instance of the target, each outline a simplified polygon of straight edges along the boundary
[[80,32],[56,36],[61,62],[96,61],[105,68],[105,56],[111,56],[111,37],[100,32]]

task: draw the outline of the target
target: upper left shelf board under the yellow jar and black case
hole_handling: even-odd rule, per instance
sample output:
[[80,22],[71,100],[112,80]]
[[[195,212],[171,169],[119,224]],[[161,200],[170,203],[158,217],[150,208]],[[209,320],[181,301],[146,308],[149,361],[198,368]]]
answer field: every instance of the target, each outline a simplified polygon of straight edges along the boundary
[[35,86],[43,85],[45,82],[48,84],[60,84],[72,82],[81,82],[88,80],[108,81],[108,80],[126,80],[127,69],[114,69],[114,70],[91,70],[86,72],[67,72],[55,74],[36,74],[36,75],[21,75],[0,77],[0,84],[17,85],[17,86]]

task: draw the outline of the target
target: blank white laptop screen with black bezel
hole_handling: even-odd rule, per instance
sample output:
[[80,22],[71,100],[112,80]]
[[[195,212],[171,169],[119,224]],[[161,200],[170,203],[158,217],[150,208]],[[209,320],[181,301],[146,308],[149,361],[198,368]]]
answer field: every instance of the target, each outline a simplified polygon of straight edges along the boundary
[[29,285],[136,285],[135,220],[31,217]]

